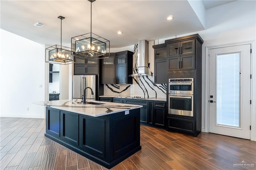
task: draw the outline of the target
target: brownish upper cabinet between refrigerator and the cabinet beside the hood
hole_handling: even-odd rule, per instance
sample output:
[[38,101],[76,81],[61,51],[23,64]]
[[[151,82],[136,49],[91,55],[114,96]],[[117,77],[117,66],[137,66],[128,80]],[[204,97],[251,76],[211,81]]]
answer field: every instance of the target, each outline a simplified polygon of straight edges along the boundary
[[115,84],[115,53],[110,53],[108,58],[103,58],[101,69],[101,83],[102,84]]

